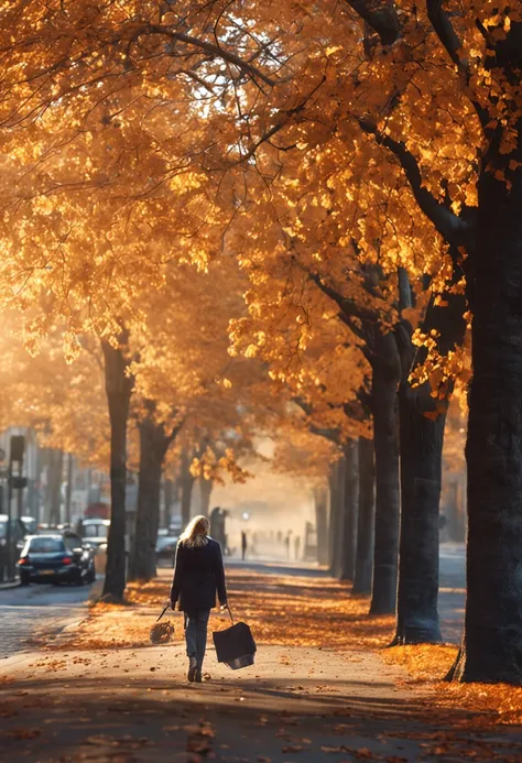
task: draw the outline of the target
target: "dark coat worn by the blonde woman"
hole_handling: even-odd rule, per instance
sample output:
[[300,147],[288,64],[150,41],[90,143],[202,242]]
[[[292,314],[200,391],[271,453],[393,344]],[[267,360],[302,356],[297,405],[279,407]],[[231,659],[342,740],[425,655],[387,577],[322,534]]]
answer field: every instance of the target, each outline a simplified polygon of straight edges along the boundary
[[184,612],[214,609],[216,593],[219,603],[226,604],[227,588],[219,543],[211,537],[208,538],[207,545],[200,548],[188,548],[178,543],[171,588],[173,608],[178,601],[180,609]]

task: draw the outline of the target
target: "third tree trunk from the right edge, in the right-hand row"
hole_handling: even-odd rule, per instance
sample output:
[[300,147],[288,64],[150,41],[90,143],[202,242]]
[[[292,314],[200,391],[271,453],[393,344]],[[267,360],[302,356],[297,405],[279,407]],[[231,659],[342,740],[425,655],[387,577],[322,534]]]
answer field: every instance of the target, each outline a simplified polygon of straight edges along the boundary
[[399,552],[399,416],[401,374],[393,335],[377,337],[371,411],[376,454],[376,544],[370,614],[395,611]]

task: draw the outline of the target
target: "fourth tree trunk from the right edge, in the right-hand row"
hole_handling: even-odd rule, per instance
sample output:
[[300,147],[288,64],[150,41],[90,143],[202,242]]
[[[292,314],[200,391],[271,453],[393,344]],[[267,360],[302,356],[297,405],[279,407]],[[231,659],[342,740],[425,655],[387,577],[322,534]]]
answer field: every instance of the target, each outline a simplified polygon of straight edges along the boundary
[[359,515],[357,523],[354,593],[371,592],[376,517],[376,470],[373,440],[359,438]]

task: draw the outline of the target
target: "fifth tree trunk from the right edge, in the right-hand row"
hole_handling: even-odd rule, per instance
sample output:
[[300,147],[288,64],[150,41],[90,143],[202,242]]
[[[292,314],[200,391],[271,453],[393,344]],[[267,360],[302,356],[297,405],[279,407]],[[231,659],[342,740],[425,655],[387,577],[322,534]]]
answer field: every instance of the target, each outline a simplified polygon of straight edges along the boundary
[[357,503],[358,503],[358,459],[357,440],[350,439],[344,447],[345,469],[344,469],[344,491],[342,491],[342,526],[340,535],[340,558],[339,574],[340,580],[352,580],[356,556],[356,527],[357,527]]

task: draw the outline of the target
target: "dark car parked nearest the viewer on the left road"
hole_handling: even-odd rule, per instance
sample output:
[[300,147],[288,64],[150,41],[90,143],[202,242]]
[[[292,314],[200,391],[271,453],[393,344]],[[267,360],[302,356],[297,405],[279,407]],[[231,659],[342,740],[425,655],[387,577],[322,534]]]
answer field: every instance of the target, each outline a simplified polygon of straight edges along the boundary
[[[72,534],[74,538],[78,536]],[[95,559],[91,549],[76,545],[64,534],[31,535],[18,560],[20,582],[94,582]]]

